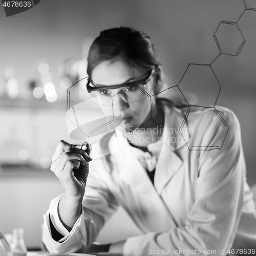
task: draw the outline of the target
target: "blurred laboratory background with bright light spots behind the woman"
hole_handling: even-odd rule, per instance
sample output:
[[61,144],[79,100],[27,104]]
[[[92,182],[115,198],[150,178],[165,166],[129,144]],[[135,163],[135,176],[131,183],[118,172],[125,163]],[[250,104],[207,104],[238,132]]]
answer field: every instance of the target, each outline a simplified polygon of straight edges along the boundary
[[[217,105],[240,120],[247,180],[256,184],[255,24],[256,5],[250,0],[44,0],[10,17],[1,6],[2,232],[23,228],[26,245],[40,246],[42,215],[63,192],[50,172],[51,157],[59,140],[77,142],[66,126],[67,88],[86,76],[92,40],[112,27],[132,26],[151,36],[168,87],[179,83],[189,63],[212,63],[221,86]],[[89,98],[83,87],[76,93]],[[204,97],[202,91],[190,96]],[[115,218],[99,241],[139,234],[122,210]]]

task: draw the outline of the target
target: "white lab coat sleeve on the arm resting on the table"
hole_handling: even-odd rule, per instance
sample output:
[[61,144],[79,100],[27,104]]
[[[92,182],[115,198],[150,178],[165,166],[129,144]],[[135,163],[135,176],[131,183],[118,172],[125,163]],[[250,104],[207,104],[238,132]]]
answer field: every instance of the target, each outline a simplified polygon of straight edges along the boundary
[[246,167],[239,121],[231,111],[224,111],[222,116],[229,126],[227,135],[225,126],[217,125],[219,117],[215,115],[209,117],[211,125],[202,136],[202,145],[209,138],[212,138],[211,145],[218,145],[226,137],[220,150],[200,152],[195,201],[184,225],[168,232],[151,232],[127,239],[125,256],[166,252],[174,255],[227,254],[241,217]]

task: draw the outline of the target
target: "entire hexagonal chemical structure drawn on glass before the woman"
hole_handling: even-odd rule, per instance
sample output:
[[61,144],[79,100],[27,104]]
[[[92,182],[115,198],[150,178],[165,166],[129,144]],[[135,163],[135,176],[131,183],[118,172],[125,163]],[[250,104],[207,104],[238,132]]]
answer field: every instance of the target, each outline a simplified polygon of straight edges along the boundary
[[[225,138],[229,132],[229,126],[226,123],[225,119],[218,111],[216,103],[221,92],[221,84],[212,68],[212,64],[223,54],[238,56],[242,51],[246,40],[240,30],[238,23],[242,15],[246,11],[256,11],[256,1],[252,0],[243,0],[244,10],[239,16],[237,22],[233,21],[224,21],[222,20],[213,36],[216,41],[216,44],[219,48],[219,55],[210,63],[201,64],[201,63],[189,63],[184,74],[182,75],[180,81],[176,86],[163,88],[161,92],[151,93],[146,89],[146,84],[138,83],[135,79],[135,70],[134,64],[129,63],[128,66],[133,70],[133,81],[129,84],[126,84],[125,87],[122,87],[120,91],[114,95],[108,93],[108,91],[99,86],[98,84],[90,81],[88,77],[81,79],[77,83],[73,84],[67,90],[67,112],[66,120],[70,122],[70,137],[73,139],[89,139],[94,136],[98,136],[105,133],[113,133],[117,137],[116,129],[122,129],[131,135],[137,130],[141,129],[148,122],[153,122],[155,125],[161,127],[161,125],[153,118],[152,114],[152,102],[153,97],[161,97],[169,89],[176,90],[179,96],[181,96],[183,102],[183,121],[179,126],[179,133],[184,139],[189,151],[210,151],[210,150],[220,150],[225,141]],[[83,102],[76,102],[74,99],[75,93],[72,93],[74,87],[83,87],[86,89],[85,83],[92,83],[93,87],[97,87],[100,96],[92,99],[88,99]],[[126,92],[133,87],[134,94],[129,95]],[[88,89],[88,88],[87,88]],[[190,91],[190,94],[189,94]],[[89,92],[89,90],[88,90]],[[122,95],[125,94],[125,97]],[[74,94],[73,99],[71,95]],[[191,97],[191,95],[196,95],[196,98]],[[134,97],[136,95],[136,97]],[[141,104],[147,105],[150,109],[150,114],[148,118],[144,120],[136,130],[131,130],[130,127],[125,126],[125,122],[122,117],[115,113],[114,105],[115,103],[122,99],[127,104],[133,104],[134,102],[141,101]],[[83,120],[86,114],[84,109],[88,108],[91,104],[89,101],[97,105],[98,111],[101,114],[91,115],[90,120]],[[187,137],[184,136],[183,129],[185,124],[189,120],[189,115],[194,112],[194,110],[200,109],[205,110],[208,113],[208,120],[217,118],[217,123],[219,126],[222,126],[222,136],[219,144],[211,144],[213,142],[212,138],[204,140],[203,144],[191,144],[188,143]],[[90,116],[90,115],[89,115]],[[83,120],[83,121],[81,121]],[[210,121],[206,124],[207,129],[211,129]],[[191,127],[193,129],[193,127]],[[194,131],[197,133],[197,131]]]

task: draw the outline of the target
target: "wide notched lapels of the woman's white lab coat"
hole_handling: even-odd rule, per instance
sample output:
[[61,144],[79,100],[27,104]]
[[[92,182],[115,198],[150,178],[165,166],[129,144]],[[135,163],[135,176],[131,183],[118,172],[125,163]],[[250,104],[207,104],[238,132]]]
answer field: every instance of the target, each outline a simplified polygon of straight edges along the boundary
[[[122,150],[115,152],[115,161],[122,166],[119,176],[126,183],[135,187],[141,193],[161,194],[162,189],[181,167],[183,160],[176,154],[178,150],[186,146],[189,140],[187,123],[184,121],[184,114],[174,108],[164,107],[165,124],[162,134],[162,147],[160,149],[153,186],[144,168],[141,166],[136,156],[132,153],[131,145],[124,136],[121,136],[123,144]],[[117,134],[119,136],[119,134]],[[112,137],[113,138],[113,137]],[[110,140],[111,146],[112,140]],[[125,160],[124,160],[125,159]],[[122,163],[122,161],[125,161]]]

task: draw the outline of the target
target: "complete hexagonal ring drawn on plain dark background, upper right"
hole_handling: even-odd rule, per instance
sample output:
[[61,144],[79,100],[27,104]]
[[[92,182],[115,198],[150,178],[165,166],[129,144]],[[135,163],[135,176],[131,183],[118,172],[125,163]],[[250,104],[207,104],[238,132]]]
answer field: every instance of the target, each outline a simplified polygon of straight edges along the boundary
[[234,22],[220,22],[214,33],[214,38],[220,54],[232,56],[238,56],[246,42],[239,27]]

